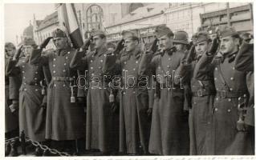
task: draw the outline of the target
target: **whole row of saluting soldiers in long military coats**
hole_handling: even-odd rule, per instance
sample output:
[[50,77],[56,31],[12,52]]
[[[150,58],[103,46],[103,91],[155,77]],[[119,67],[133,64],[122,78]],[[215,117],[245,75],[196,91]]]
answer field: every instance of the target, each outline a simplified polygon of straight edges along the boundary
[[[100,30],[76,50],[59,29],[15,54],[6,43],[6,138],[19,126],[70,154],[83,138],[104,155],[254,154],[253,39],[232,27],[191,44],[185,31],[155,32],[147,50],[131,30],[112,49]],[[56,50],[44,54],[51,39]]]

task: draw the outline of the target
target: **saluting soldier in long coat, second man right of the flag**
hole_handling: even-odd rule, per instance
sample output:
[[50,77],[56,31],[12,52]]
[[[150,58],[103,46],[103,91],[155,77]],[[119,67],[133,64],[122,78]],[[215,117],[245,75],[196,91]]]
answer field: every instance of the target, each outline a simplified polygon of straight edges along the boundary
[[[120,152],[128,154],[148,154],[150,123],[148,122],[148,76],[138,74],[143,51],[139,38],[130,30],[122,32],[114,55],[107,56],[106,71],[121,74],[120,90]],[[124,42],[124,50],[122,43]],[[117,51],[119,50],[119,51]],[[119,57],[119,58],[118,58]],[[144,82],[142,82],[144,81]]]

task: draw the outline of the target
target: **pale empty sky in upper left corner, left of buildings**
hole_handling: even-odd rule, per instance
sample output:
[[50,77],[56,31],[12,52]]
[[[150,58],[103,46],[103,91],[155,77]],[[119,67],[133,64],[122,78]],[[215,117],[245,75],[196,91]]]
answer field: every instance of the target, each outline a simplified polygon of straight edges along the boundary
[[4,5],[4,38],[5,42],[13,42],[16,44],[16,35],[18,35],[18,42],[20,36],[26,26],[33,25],[33,18],[35,14],[36,20],[43,20],[47,15],[55,11],[54,3],[33,4],[33,3],[6,3]]

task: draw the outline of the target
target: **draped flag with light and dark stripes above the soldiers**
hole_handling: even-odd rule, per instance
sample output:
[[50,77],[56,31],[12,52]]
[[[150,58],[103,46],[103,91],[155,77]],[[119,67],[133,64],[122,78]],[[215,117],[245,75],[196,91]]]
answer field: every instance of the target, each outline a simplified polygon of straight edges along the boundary
[[79,29],[78,19],[75,13],[75,6],[72,3],[60,3],[57,6],[59,27],[64,30],[69,37],[74,48],[83,46],[83,38]]

